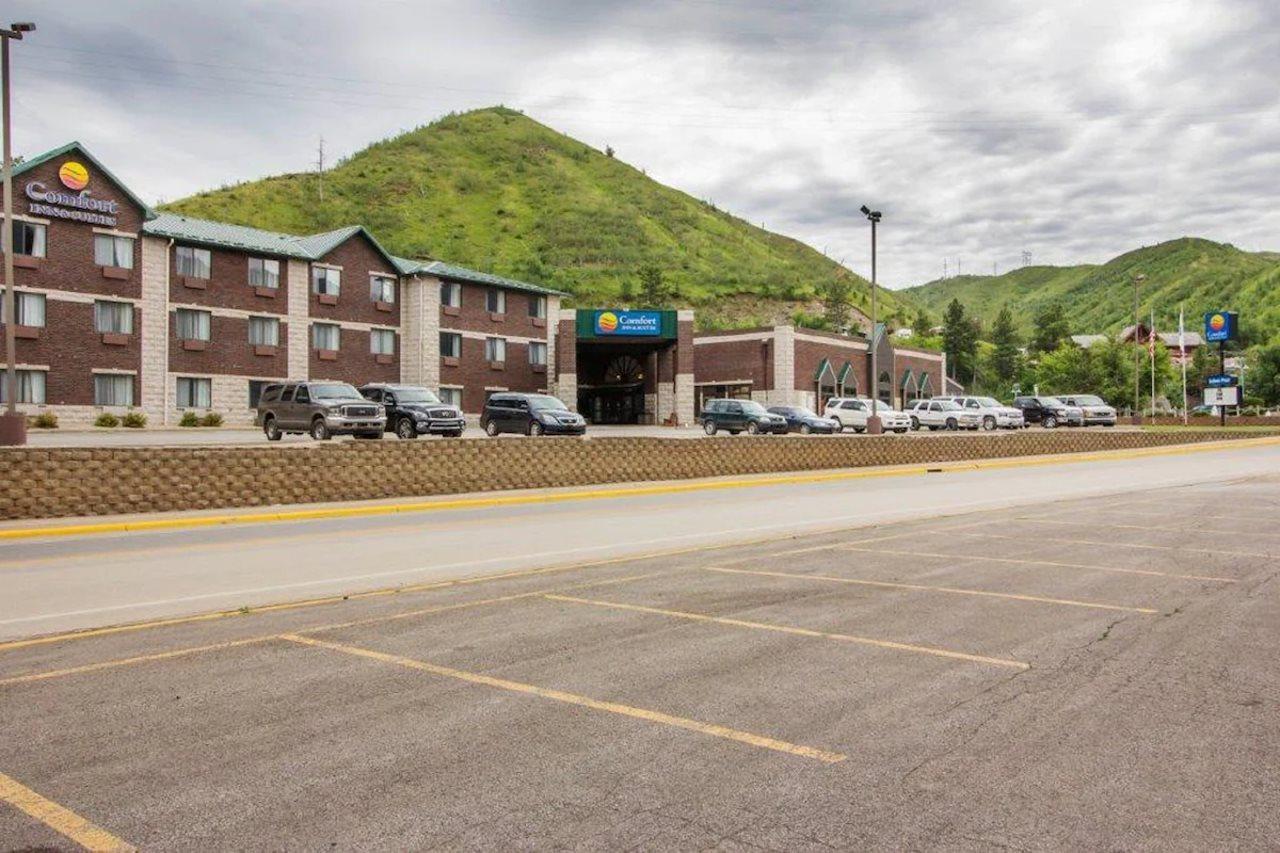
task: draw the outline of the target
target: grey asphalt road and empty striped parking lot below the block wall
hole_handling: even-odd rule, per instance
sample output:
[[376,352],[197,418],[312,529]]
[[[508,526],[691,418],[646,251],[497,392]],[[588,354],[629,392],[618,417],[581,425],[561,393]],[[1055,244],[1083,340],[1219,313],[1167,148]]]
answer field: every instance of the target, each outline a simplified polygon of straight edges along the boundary
[[1277,502],[1253,447],[8,543],[0,840],[1261,849]]

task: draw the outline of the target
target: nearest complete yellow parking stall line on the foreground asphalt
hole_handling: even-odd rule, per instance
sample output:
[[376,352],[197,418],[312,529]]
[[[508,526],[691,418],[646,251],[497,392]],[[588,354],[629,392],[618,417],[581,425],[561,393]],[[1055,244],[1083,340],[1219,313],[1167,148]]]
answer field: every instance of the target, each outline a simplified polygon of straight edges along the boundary
[[403,666],[406,669],[417,670],[421,672],[430,672],[433,675],[457,679],[460,681],[468,681],[471,684],[483,684],[485,686],[497,688],[499,690],[524,693],[526,695],[535,695],[543,699],[550,699],[553,702],[563,702],[566,704],[576,704],[584,708],[591,708],[593,711],[605,711],[608,713],[617,713],[636,720],[644,720],[646,722],[657,722],[660,725],[675,726],[677,729],[696,731],[699,734],[705,734],[714,738],[724,738],[727,740],[735,740],[737,743],[749,744],[751,747],[759,747],[762,749],[773,749],[774,752],[783,752],[792,756],[800,756],[801,758],[813,758],[815,761],[820,761],[824,763],[837,763],[847,757],[838,752],[827,752],[824,749],[815,749],[813,747],[801,747],[799,744],[787,743],[786,740],[777,740],[774,738],[767,738],[764,735],[751,734],[749,731],[740,731],[737,729],[730,729],[727,726],[719,726],[709,722],[700,722],[698,720],[690,720],[687,717],[677,717],[669,713],[662,713],[660,711],[649,711],[648,708],[635,708],[628,704],[620,704],[617,702],[603,702],[600,699],[593,699],[590,697],[579,695],[576,693],[566,693],[564,690],[540,688],[534,684],[525,684],[522,681],[511,681],[508,679],[499,679],[492,675],[481,675],[479,672],[468,672],[466,670],[454,670],[448,666],[439,666],[438,663],[429,663],[426,661],[419,661],[411,657],[401,657],[398,654],[387,654],[385,652],[375,652],[372,649],[360,648],[356,646],[346,646],[343,643],[329,643],[325,640],[319,640],[308,637],[298,637],[297,634],[283,634],[282,639],[293,643],[301,643],[303,646],[315,646],[319,648],[326,648],[335,652],[343,652],[344,654],[353,654],[356,657],[365,657],[374,661],[381,661],[384,663],[394,663],[396,666]]

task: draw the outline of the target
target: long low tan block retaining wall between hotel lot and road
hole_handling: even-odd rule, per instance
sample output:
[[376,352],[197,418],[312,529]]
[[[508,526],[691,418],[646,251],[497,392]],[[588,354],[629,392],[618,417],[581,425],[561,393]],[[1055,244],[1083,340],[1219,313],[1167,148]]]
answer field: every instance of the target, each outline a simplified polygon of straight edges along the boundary
[[[1280,435],[1280,430],[1268,433]],[[877,438],[540,438],[259,447],[0,448],[0,517],[207,510],[920,465],[1239,439],[1240,433],[1036,430]]]

